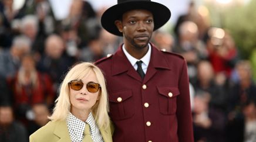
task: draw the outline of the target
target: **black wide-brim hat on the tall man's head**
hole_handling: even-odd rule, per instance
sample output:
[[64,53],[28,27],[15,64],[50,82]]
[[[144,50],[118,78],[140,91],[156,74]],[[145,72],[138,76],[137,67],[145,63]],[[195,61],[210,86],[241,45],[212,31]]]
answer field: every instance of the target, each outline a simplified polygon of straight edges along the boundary
[[169,8],[157,2],[151,2],[150,0],[117,0],[117,5],[111,6],[103,13],[101,19],[102,27],[116,36],[123,36],[123,33],[119,32],[114,21],[121,19],[123,13],[133,9],[146,9],[150,11],[154,18],[154,30],[163,26],[171,17]]

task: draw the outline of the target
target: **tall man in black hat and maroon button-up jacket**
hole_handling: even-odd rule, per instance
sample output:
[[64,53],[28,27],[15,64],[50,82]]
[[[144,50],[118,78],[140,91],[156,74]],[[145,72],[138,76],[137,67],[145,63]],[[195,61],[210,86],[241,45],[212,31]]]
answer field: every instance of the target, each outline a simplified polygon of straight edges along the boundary
[[149,0],[117,3],[101,22],[124,44],[95,63],[107,81],[113,141],[194,141],[186,61],[149,43],[170,10]]

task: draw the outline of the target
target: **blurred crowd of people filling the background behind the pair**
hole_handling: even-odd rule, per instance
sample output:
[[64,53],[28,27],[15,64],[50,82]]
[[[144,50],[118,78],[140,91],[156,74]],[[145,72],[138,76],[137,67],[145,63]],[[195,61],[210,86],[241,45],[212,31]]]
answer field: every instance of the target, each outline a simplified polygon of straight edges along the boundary
[[[113,54],[121,37],[102,29],[89,2],[73,0],[56,20],[47,0],[21,9],[0,1],[0,141],[28,141],[45,125],[69,67]],[[193,2],[173,30],[157,30],[151,42],[186,58],[196,142],[255,142],[256,86],[252,67],[228,30],[212,27]],[[171,78],[170,78],[171,79]]]

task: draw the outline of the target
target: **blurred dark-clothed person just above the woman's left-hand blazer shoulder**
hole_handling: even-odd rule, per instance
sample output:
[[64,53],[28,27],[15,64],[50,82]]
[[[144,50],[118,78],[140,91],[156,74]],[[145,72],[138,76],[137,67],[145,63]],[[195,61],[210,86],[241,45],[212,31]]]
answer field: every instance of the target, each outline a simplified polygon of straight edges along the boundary
[[49,122],[48,117],[50,116],[50,111],[48,105],[45,103],[36,103],[32,106],[33,119],[28,123],[28,135],[30,136],[36,130],[45,126]]

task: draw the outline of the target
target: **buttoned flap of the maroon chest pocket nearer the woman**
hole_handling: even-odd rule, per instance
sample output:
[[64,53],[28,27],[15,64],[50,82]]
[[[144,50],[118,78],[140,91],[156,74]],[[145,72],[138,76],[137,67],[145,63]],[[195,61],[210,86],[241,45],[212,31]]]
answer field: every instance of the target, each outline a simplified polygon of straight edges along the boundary
[[132,90],[119,91],[113,93],[110,92],[109,101],[120,103],[126,101],[126,99],[129,99],[130,97],[132,97]]

